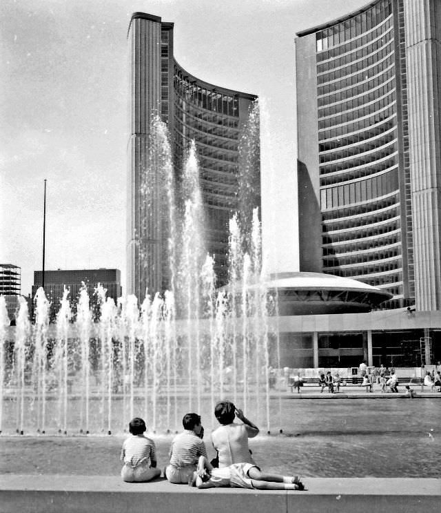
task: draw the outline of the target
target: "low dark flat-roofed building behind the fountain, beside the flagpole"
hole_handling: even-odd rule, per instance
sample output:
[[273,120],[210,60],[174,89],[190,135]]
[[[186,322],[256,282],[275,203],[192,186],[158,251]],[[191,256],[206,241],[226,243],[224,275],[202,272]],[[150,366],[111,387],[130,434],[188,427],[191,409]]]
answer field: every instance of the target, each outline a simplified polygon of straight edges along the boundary
[[[34,271],[32,298],[43,282],[42,271]],[[88,289],[89,298],[93,300],[94,289],[101,284],[107,289],[107,297],[116,300],[121,297],[121,271],[119,269],[57,269],[44,272],[44,290],[46,297],[57,311],[64,289],[69,289],[68,298],[71,304],[76,304],[81,289]]]

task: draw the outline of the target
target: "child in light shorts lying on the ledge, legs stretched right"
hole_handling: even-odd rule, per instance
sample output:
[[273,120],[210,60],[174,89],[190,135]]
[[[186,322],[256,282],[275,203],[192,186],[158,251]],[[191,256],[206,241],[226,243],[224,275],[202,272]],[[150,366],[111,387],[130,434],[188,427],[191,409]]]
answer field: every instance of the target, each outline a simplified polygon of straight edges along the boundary
[[230,486],[252,490],[305,490],[298,476],[266,474],[252,463],[233,463],[228,467],[214,468],[205,456],[199,458],[197,470],[189,478],[188,484],[198,488]]

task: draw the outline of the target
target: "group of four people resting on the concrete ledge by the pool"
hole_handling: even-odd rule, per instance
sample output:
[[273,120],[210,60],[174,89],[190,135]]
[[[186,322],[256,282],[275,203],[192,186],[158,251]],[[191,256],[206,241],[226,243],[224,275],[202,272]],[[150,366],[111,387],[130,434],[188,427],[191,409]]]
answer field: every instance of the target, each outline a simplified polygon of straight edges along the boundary
[[[216,451],[212,461],[207,458],[201,416],[189,413],[183,417],[183,432],[174,437],[170,460],[163,472],[170,483],[187,483],[198,488],[305,490],[298,476],[271,474],[256,465],[248,439],[257,436],[259,429],[242,410],[229,401],[221,401],[216,405],[214,415],[219,427],[212,432],[212,445]],[[240,422],[234,422],[236,418]],[[130,420],[130,436],[121,449],[124,463],[121,477],[127,483],[151,481],[161,476],[155,443],[145,436],[146,429],[142,418]]]

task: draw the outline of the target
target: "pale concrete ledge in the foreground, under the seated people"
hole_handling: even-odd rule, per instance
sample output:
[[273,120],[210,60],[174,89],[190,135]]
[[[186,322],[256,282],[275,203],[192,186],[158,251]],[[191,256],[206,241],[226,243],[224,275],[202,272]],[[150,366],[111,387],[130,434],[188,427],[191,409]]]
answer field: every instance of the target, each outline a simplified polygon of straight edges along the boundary
[[123,483],[117,476],[3,475],[0,513],[376,513],[438,511],[441,479],[305,478],[307,491],[197,490],[164,479]]

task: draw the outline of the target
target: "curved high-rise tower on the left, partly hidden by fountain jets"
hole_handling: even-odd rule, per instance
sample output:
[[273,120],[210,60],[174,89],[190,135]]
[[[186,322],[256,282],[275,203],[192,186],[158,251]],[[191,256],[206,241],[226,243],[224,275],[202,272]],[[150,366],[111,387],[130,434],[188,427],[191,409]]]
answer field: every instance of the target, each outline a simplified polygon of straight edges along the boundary
[[128,32],[127,293],[141,301],[147,287],[150,293],[170,287],[170,220],[164,209],[170,184],[149,154],[155,116],[167,124],[175,184],[181,181],[190,142],[196,143],[206,249],[214,255],[218,284],[227,280],[229,218],[244,210],[244,202],[260,206],[258,128],[254,137],[245,137],[258,127],[250,128],[256,96],[208,84],[184,70],[174,59],[173,27],[161,17],[136,12]]

